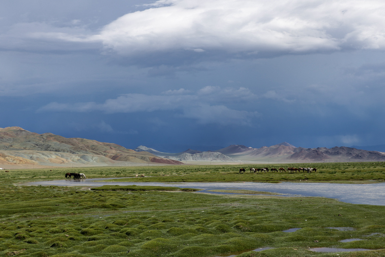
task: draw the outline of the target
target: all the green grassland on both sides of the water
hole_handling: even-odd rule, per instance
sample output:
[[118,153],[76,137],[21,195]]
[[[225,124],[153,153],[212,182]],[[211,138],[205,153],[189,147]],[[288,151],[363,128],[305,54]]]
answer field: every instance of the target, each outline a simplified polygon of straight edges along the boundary
[[[250,167],[317,167],[314,173],[249,173]],[[239,174],[244,167],[246,173]],[[172,182],[385,182],[380,163],[92,167],[0,171],[0,256],[385,256],[385,206],[328,198],[194,193]],[[23,186],[87,178],[169,182],[170,187]],[[132,178],[144,174],[145,178]],[[263,192],[254,192],[263,193]],[[341,192],[343,194],[343,192]],[[284,232],[300,228],[295,232]],[[350,242],[341,240],[356,239]],[[253,249],[270,247],[261,252]],[[370,249],[312,252],[315,247]],[[337,255],[338,254],[338,255]]]

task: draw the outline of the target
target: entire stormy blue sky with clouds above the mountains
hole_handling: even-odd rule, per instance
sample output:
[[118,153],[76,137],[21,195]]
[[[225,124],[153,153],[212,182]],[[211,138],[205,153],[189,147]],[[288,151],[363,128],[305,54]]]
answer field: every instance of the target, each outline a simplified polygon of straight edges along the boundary
[[164,152],[385,144],[382,0],[3,0],[0,127]]

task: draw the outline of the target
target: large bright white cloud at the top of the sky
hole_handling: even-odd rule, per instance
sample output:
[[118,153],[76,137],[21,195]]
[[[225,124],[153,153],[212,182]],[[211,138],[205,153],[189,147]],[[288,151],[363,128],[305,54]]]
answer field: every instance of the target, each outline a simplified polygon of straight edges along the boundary
[[93,38],[124,56],[189,49],[264,56],[385,46],[385,3],[379,0],[162,0],[148,6]]

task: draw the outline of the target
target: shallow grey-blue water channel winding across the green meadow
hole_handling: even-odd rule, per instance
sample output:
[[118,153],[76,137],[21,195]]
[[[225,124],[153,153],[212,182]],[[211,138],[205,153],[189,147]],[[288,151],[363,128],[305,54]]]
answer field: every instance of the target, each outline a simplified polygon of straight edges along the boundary
[[[116,178],[115,178],[116,179]],[[346,203],[385,205],[385,183],[374,184],[332,184],[332,183],[159,183],[139,182],[139,178],[132,178],[132,182],[117,182],[115,179],[62,179],[54,181],[38,181],[23,183],[23,185],[42,186],[89,186],[98,187],[104,185],[120,186],[176,186],[179,188],[202,189],[199,192],[212,194],[227,194],[213,192],[215,189],[245,189],[284,194],[285,196],[319,196],[334,198]]]

